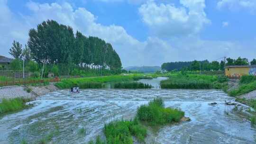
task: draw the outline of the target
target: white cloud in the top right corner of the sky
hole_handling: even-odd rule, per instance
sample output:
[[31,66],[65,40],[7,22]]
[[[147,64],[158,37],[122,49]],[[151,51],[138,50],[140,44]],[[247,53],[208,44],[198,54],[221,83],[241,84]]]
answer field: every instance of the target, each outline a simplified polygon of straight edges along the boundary
[[232,11],[244,9],[254,13],[256,11],[256,0],[220,0],[217,3],[217,8],[228,8]]

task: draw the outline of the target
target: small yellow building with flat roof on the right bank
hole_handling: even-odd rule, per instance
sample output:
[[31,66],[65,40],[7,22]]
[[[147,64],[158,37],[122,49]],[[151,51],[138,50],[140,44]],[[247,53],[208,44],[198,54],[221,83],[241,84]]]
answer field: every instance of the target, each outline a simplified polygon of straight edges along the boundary
[[230,65],[225,67],[225,75],[228,77],[249,75],[250,65]]

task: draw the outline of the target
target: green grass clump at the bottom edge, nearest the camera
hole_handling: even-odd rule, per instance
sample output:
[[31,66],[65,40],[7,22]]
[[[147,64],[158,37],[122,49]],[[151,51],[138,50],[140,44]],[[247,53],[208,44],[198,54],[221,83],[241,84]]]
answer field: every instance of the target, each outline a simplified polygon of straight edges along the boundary
[[133,144],[132,136],[144,143],[147,130],[140,125],[137,118],[134,120],[112,120],[105,124],[104,134],[106,135],[107,144]]

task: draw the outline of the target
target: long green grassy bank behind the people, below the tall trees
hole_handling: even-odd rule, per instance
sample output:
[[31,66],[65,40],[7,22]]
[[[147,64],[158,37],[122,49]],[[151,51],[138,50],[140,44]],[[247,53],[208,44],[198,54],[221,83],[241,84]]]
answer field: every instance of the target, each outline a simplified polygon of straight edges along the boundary
[[71,87],[79,86],[82,89],[86,88],[104,88],[103,83],[107,82],[120,82],[120,81],[133,81],[133,76],[104,76],[104,77],[91,77],[91,78],[77,78],[66,79],[55,84],[60,89],[68,89]]

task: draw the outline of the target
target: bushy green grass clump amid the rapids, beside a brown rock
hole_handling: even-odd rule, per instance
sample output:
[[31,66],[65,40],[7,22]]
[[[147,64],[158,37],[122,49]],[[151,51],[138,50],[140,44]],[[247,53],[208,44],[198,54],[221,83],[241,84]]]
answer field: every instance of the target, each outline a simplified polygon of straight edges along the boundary
[[163,100],[156,98],[148,105],[140,106],[137,109],[137,117],[150,125],[164,125],[179,122],[184,117],[184,112],[179,109],[165,108]]

